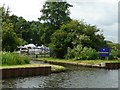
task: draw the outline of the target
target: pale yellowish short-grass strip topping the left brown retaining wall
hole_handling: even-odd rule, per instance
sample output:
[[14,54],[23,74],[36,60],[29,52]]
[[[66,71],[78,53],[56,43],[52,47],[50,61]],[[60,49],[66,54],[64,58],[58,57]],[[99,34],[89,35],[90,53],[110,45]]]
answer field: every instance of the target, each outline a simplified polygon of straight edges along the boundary
[[12,66],[2,66],[1,69],[10,69],[10,68],[30,68],[30,67],[46,67],[51,66],[52,72],[62,72],[65,71],[63,66],[51,65],[51,64],[26,64],[26,65],[12,65]]

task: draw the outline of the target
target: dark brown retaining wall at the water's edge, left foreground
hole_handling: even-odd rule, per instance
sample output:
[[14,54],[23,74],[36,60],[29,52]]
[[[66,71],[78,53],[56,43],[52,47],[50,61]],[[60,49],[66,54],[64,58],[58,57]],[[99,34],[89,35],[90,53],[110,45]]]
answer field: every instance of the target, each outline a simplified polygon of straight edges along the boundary
[[51,73],[51,66],[29,67],[29,68],[7,68],[0,69],[2,78],[27,77],[37,75],[48,75]]

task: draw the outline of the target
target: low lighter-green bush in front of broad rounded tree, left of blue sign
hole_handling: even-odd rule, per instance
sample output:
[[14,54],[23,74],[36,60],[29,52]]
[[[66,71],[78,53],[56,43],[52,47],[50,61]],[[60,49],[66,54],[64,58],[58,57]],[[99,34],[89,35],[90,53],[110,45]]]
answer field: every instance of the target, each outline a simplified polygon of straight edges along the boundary
[[95,60],[99,58],[98,52],[95,49],[82,47],[82,45],[77,45],[77,47],[71,49],[68,48],[66,55],[67,59],[76,60]]

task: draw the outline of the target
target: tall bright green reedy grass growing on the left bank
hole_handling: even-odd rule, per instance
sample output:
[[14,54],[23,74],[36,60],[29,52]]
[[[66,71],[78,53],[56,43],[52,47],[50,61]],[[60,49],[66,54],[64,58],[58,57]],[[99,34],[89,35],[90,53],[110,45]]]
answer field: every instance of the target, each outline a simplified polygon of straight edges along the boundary
[[27,55],[20,55],[11,52],[2,52],[2,65],[29,64],[30,58]]

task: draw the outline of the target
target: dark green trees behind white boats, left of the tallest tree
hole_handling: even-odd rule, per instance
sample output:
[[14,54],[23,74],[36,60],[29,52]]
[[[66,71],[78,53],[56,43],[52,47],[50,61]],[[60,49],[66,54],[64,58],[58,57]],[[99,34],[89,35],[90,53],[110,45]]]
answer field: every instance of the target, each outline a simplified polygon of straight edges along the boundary
[[28,43],[41,44],[42,24],[38,21],[26,21],[23,17],[10,16],[17,36]]

